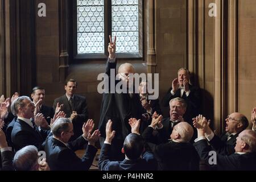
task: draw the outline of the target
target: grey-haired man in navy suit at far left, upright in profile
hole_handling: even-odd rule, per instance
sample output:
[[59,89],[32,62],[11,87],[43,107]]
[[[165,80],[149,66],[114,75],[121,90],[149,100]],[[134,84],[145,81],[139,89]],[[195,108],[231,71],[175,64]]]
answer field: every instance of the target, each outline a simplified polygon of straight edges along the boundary
[[34,145],[38,150],[42,150],[42,143],[47,138],[49,130],[39,130],[35,123],[46,123],[48,126],[46,120],[44,118],[41,118],[39,122],[37,118],[35,118],[35,122],[32,120],[34,118],[35,105],[27,96],[18,97],[11,105],[17,115],[11,132],[11,142],[15,151],[28,145]]

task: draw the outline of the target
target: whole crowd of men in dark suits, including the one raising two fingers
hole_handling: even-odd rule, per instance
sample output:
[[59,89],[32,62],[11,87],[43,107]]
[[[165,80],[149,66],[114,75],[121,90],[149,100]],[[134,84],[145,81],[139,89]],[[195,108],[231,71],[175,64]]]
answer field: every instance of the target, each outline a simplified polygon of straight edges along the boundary
[[[116,38],[108,46],[106,74],[116,69]],[[117,77],[129,89],[133,65],[122,64]],[[200,115],[200,89],[179,69],[163,101],[148,100],[147,81],[137,93],[104,93],[98,129],[88,119],[86,98],[76,93],[77,81],[65,82],[65,94],[53,107],[44,105],[45,89],[36,86],[31,98],[15,93],[0,98],[1,170],[88,170],[100,141],[100,170],[199,170],[204,160],[214,170],[256,170],[256,108],[253,129],[241,113],[225,120],[218,137]],[[160,104],[170,107],[164,118]],[[82,158],[75,151],[86,148]],[[44,151],[45,158],[40,157]],[[212,163],[209,159],[215,152]]]

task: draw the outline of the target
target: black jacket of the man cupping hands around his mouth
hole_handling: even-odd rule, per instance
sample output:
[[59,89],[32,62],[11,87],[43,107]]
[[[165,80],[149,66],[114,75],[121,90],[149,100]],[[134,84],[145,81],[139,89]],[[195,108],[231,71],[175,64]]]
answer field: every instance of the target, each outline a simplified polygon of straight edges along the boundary
[[[180,97],[180,89],[177,90],[177,92],[172,96],[171,94],[172,88],[168,90],[166,93],[166,96],[164,96],[162,103],[164,107],[169,106],[169,102],[176,97]],[[183,98],[187,102],[187,110],[183,116],[185,121],[188,123],[191,123],[192,125],[192,118],[196,117],[198,114],[200,114],[200,105],[201,105],[201,94],[200,89],[196,86],[189,85],[189,96],[187,97],[185,92],[183,93]]]

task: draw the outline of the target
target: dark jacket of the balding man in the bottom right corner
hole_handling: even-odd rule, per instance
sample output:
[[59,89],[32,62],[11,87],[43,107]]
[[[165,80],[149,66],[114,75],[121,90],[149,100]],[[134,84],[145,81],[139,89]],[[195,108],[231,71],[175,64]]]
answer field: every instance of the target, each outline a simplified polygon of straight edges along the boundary
[[[210,146],[207,144],[207,140],[199,140],[194,143],[196,151],[198,152],[201,159],[208,161],[210,159],[209,152],[211,151]],[[256,154],[247,152],[246,154],[232,154],[232,155],[216,155],[216,165],[209,165],[210,167],[217,168],[218,170],[245,170],[255,171],[256,170]]]

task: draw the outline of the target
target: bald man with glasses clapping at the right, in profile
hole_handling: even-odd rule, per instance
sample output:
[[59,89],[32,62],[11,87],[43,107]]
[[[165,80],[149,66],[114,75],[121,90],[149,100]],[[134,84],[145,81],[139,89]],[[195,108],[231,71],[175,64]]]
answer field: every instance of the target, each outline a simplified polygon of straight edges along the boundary
[[[196,118],[193,118],[193,121],[195,123]],[[241,113],[232,113],[228,115],[228,117],[225,119],[225,122],[226,133],[222,134],[220,137],[217,137],[217,135],[213,133],[210,127],[205,125],[205,138],[218,154],[230,155],[234,154],[235,152],[234,146],[236,146],[236,138],[243,130],[248,127],[249,121],[245,115]]]

